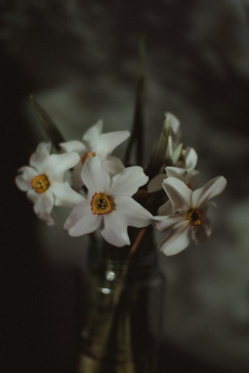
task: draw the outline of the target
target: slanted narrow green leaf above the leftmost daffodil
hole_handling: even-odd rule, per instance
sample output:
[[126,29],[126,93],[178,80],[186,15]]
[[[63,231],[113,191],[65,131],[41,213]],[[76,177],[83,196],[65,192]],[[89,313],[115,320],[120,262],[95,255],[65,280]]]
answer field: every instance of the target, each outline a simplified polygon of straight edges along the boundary
[[35,114],[39,121],[41,122],[47,136],[50,138],[57,150],[60,149],[59,143],[64,142],[65,139],[60,133],[59,129],[54,124],[53,120],[47,114],[47,112],[41,107],[41,105],[36,101],[33,95],[30,95],[30,100],[33,104]]

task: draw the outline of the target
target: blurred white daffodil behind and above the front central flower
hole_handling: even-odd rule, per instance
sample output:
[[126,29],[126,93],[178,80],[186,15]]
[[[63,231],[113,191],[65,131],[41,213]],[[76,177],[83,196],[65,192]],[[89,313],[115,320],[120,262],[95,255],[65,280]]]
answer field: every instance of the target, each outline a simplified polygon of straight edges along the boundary
[[75,189],[79,189],[83,185],[81,179],[81,168],[90,155],[95,156],[96,154],[99,154],[104,169],[111,176],[116,175],[124,169],[122,161],[110,154],[118,145],[129,137],[129,131],[102,133],[102,129],[103,121],[99,121],[84,133],[82,141],[72,140],[60,143],[60,146],[64,151],[75,151],[80,155],[80,161],[72,171],[72,183]]

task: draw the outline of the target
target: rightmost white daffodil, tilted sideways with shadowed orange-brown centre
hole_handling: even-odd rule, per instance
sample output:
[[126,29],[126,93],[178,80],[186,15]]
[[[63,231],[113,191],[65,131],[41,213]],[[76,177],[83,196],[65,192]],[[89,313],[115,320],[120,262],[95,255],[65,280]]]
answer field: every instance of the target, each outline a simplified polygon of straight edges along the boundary
[[169,201],[162,205],[159,214],[152,220],[153,227],[159,232],[169,230],[167,236],[159,243],[158,248],[166,255],[176,254],[189,245],[189,230],[195,243],[204,241],[211,234],[210,222],[206,217],[208,202],[220,194],[226,187],[223,176],[215,177],[206,185],[195,191],[175,178],[168,177],[163,188]]

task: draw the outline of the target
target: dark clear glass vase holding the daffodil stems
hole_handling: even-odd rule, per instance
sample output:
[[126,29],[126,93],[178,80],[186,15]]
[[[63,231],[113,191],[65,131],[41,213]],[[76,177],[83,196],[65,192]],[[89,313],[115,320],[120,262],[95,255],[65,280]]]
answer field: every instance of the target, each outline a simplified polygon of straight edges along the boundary
[[89,309],[78,373],[155,373],[164,277],[148,245],[89,250]]

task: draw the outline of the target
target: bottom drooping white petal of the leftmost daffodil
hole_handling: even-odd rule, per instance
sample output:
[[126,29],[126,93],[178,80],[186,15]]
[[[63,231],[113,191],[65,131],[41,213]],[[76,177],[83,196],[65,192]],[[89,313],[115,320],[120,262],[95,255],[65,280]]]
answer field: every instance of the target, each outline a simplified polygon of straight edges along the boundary
[[54,219],[51,216],[53,205],[54,197],[50,190],[41,193],[34,204],[34,212],[41,220],[46,222],[47,225],[54,224]]

